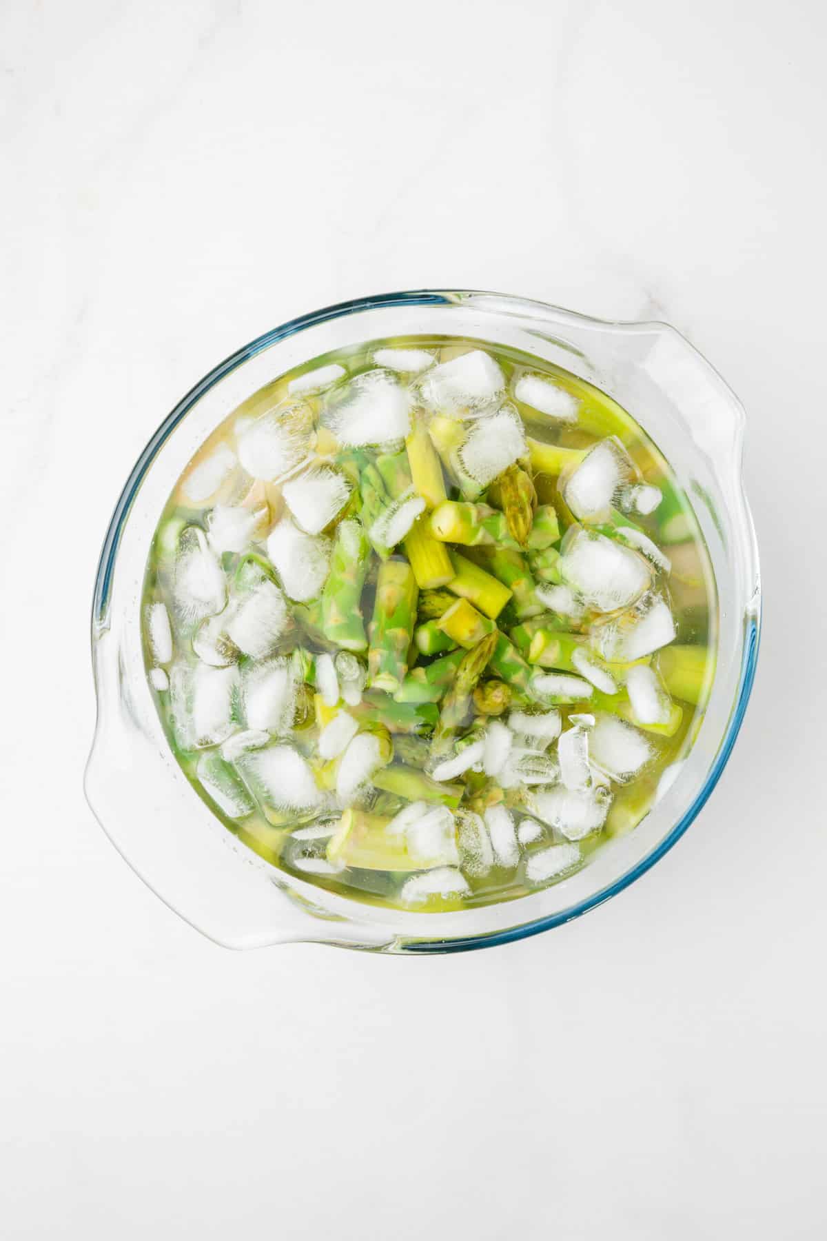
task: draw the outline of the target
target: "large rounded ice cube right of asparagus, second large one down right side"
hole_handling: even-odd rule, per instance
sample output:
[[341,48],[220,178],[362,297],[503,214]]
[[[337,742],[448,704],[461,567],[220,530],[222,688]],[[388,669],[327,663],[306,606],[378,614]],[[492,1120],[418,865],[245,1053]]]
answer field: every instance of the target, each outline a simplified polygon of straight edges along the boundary
[[652,571],[631,547],[572,527],[563,542],[560,573],[598,612],[627,608],[652,585]]

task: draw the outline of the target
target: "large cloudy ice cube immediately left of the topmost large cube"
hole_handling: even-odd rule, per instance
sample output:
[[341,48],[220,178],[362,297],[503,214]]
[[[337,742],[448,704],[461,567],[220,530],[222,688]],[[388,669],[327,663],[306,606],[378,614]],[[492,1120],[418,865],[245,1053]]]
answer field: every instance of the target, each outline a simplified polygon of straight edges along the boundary
[[330,393],[322,422],[341,444],[387,444],[410,431],[410,398],[392,371],[365,371]]

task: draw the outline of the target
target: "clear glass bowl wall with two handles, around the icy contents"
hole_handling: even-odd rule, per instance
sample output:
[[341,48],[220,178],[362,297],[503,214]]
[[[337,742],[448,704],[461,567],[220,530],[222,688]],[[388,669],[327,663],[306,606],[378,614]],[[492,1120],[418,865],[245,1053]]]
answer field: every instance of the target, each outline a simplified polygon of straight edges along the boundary
[[[564,366],[643,426],[689,495],[719,594],[718,668],[699,735],[667,793],[588,866],[531,896],[450,913],[400,912],[326,892],[241,844],[195,793],[150,695],[140,633],[146,557],[166,499],[210,432],[264,383],[332,349],[402,335],[467,336]],[[732,752],[755,673],[758,552],[741,483],[744,413],[673,328],[604,323],[479,292],[391,293],[293,319],[214,367],[141,453],[107,532],[94,589],[98,717],[86,793],[115,848],[182,918],[219,944],[316,941],[384,952],[454,952],[567,922],[627,887],[671,849]]]

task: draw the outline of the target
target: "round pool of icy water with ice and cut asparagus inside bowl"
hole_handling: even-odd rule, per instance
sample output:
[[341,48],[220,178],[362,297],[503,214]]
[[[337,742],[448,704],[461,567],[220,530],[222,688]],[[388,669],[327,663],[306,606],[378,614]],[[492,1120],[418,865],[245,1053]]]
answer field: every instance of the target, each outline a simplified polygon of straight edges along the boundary
[[703,717],[692,506],[604,392],[453,338],[284,375],[201,447],[143,601],[172,752],[286,875],[423,912],[559,882]]

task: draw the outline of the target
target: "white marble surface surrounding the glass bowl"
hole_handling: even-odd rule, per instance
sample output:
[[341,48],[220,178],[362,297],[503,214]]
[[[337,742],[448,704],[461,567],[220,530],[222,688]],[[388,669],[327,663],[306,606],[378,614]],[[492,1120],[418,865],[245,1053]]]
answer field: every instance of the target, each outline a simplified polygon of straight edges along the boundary
[[[823,6],[9,0],[0,31],[4,1236],[823,1235]],[[100,540],[217,359],[440,284],[666,318],[741,396],[753,704],[687,836],[574,925],[232,954],[82,797]]]

